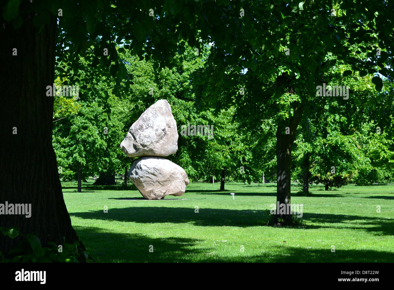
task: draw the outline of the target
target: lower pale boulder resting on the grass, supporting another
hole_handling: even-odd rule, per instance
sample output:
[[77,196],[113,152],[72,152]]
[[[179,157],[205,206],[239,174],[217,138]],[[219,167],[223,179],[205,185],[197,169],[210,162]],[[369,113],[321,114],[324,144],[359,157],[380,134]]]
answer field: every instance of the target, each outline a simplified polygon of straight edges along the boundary
[[182,196],[189,184],[185,170],[162,157],[137,159],[130,167],[128,176],[146,199]]

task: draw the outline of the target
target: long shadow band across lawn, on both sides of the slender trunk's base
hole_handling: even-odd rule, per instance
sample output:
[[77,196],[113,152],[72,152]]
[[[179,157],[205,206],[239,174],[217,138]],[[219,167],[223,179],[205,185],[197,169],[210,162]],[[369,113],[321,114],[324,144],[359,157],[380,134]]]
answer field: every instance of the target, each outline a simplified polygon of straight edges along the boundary
[[[154,201],[154,204],[161,205],[160,201]],[[157,203],[156,203],[157,202]],[[211,209],[185,207],[126,207],[121,209],[108,209],[104,211],[89,212],[71,212],[70,216],[76,216],[83,219],[97,220],[114,220],[119,222],[136,222],[136,223],[192,223],[198,226],[233,226],[233,227],[253,227],[267,225],[271,219],[268,210],[232,210],[232,209]],[[305,229],[357,229],[372,232],[375,235],[394,235],[394,225],[392,220],[386,218],[354,216],[345,214],[316,214],[304,213],[303,220],[312,222],[313,225],[301,225],[295,228]],[[325,223],[333,224],[332,226],[323,225]]]

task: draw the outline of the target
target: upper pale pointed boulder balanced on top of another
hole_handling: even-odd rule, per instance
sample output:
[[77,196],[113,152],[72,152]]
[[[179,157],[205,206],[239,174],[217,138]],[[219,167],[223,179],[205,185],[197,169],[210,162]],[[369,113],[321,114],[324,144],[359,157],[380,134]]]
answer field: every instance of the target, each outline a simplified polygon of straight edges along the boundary
[[121,148],[128,157],[168,156],[177,152],[177,123],[167,100],[158,100],[142,113],[128,130]]

